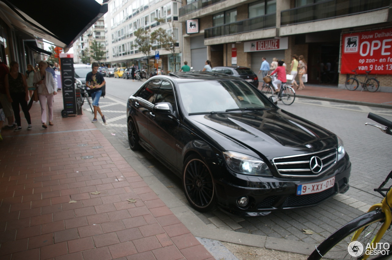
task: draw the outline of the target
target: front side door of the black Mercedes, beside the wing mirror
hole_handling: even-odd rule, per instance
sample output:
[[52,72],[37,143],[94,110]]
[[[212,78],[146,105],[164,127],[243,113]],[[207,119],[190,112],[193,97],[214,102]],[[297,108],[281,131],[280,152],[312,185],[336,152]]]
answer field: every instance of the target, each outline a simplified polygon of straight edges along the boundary
[[[163,79],[154,99],[154,104],[169,102],[173,111],[177,110],[176,99],[172,83]],[[149,113],[149,134],[151,146],[160,153],[167,162],[176,166],[176,135],[179,121],[174,113],[158,112],[153,110]]]

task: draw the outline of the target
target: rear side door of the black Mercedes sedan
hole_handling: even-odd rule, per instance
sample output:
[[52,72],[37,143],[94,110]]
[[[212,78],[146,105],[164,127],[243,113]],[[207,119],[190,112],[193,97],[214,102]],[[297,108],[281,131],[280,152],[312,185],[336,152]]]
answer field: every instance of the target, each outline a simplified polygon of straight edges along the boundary
[[138,134],[141,139],[150,144],[150,135],[148,130],[148,121],[150,113],[154,108],[153,101],[156,92],[161,85],[162,79],[152,79],[146,83],[136,94],[132,106],[135,108],[134,123],[138,128]]

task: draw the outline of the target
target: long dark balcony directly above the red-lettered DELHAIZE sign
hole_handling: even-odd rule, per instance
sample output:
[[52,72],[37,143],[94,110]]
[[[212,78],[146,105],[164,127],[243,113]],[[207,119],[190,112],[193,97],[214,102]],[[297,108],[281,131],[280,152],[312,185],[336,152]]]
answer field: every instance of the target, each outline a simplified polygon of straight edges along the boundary
[[274,28],[276,26],[276,13],[266,14],[242,20],[240,22],[227,23],[204,30],[204,38],[226,36],[230,34],[246,33],[254,30]]

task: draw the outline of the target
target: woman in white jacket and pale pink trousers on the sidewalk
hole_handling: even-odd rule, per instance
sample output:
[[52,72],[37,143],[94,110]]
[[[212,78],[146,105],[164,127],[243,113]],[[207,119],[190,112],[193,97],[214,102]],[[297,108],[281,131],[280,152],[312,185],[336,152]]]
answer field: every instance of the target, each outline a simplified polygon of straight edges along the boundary
[[57,84],[53,75],[46,70],[45,61],[38,62],[40,71],[34,73],[34,85],[38,89],[38,99],[41,105],[41,123],[42,127],[47,129],[46,125],[46,106],[49,113],[49,125],[53,125],[53,98],[57,94]]

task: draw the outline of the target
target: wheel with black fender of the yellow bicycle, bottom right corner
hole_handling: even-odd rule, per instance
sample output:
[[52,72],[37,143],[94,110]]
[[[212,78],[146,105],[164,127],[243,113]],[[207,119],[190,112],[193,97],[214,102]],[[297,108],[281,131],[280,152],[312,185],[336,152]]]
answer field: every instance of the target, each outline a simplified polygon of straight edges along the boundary
[[[385,214],[380,210],[370,211],[365,213],[332,233],[327,239],[325,239],[316,250],[308,257],[308,260],[319,260],[321,258],[327,259],[362,259],[361,257],[352,257],[348,254],[347,246],[351,242],[351,237],[354,233],[363,229],[358,239],[364,245],[366,249],[367,243],[372,242],[372,239],[377,234],[385,220]],[[392,241],[392,231],[389,228],[385,231],[384,236],[381,238],[380,243],[390,243]],[[392,249],[392,247],[391,247]],[[392,255],[392,250],[389,251],[389,255],[385,259]],[[380,259],[384,256],[376,255],[369,256],[367,259]]]

